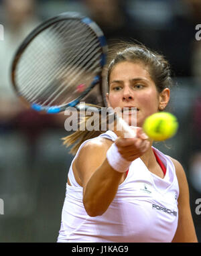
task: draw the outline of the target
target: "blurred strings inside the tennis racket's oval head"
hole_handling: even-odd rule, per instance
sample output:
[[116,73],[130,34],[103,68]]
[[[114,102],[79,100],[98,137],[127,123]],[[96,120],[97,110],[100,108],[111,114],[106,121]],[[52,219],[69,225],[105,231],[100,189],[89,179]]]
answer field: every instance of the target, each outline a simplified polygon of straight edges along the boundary
[[100,72],[102,49],[92,29],[80,21],[58,22],[41,35],[17,65],[17,86],[31,103],[64,105],[80,94],[76,86],[89,86]]

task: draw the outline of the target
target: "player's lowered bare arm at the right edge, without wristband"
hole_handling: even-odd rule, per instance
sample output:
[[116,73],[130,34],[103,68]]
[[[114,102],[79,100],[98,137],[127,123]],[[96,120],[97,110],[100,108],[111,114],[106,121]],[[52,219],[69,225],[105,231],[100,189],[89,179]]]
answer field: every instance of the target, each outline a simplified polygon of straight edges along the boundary
[[192,219],[192,214],[190,210],[190,199],[189,199],[189,188],[186,179],[186,174],[181,164],[172,159],[174,165],[176,166],[176,175],[178,177],[178,182],[180,186],[180,195],[178,198],[178,229],[173,239],[173,243],[198,243],[196,237],[196,231],[194,227],[194,222]]

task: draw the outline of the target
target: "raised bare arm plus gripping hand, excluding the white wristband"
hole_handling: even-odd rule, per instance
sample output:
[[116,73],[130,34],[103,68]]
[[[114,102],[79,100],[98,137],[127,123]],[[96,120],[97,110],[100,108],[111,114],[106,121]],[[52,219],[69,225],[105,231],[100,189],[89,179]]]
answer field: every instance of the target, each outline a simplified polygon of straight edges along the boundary
[[[123,182],[123,173],[114,170],[107,162],[107,150],[113,141],[94,139],[86,143],[75,159],[75,169],[83,187],[83,203],[90,216],[103,214]],[[119,152],[128,161],[140,157],[149,147],[145,139],[117,139]]]

